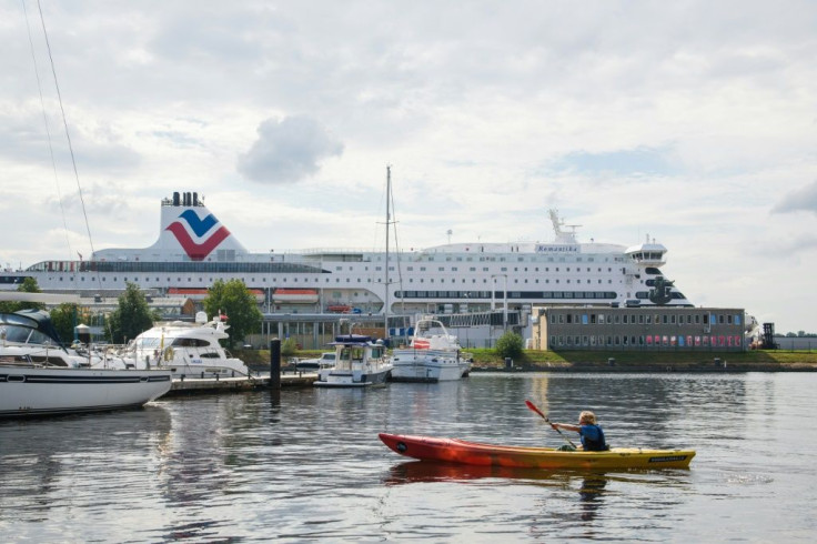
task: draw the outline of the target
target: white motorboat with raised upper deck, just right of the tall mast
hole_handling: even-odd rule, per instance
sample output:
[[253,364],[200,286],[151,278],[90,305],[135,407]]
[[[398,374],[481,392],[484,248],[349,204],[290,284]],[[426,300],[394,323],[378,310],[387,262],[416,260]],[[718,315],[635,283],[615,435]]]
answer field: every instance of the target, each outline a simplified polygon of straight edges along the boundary
[[392,381],[443,382],[460,380],[471,372],[471,359],[462,356],[456,336],[438,320],[424,318],[414,325],[407,347],[392,351]]

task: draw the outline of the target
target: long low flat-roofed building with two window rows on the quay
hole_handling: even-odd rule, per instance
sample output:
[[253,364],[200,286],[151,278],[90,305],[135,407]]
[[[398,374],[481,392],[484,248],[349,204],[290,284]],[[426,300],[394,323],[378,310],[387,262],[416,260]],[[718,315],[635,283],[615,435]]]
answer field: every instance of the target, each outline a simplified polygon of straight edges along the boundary
[[535,350],[746,351],[746,314],[726,308],[534,308]]

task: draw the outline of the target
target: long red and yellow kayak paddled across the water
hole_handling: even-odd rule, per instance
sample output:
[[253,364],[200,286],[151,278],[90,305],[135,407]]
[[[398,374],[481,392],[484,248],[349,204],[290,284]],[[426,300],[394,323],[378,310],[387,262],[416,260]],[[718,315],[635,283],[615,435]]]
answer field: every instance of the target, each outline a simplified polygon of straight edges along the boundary
[[423,461],[520,469],[686,469],[693,450],[613,447],[606,452],[563,452],[553,447],[503,446],[460,439],[379,434],[385,445],[401,455]]

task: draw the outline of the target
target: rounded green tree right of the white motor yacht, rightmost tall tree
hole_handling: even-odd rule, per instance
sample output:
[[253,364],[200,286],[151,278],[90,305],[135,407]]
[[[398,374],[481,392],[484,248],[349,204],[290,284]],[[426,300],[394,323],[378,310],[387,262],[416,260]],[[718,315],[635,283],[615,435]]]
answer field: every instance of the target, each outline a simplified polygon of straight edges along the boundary
[[226,333],[229,347],[244,336],[261,330],[263,316],[255,303],[255,298],[241,280],[216,280],[208,289],[204,299],[204,311],[208,315],[226,314],[230,328]]

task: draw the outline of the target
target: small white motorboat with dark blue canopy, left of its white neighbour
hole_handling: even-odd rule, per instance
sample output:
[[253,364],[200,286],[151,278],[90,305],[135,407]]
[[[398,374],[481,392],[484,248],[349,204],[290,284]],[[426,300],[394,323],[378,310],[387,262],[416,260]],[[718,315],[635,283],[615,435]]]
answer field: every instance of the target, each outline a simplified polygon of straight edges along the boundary
[[365,387],[384,385],[392,372],[382,341],[371,336],[344,334],[336,336],[330,345],[335,346],[335,365],[317,372],[320,387]]

